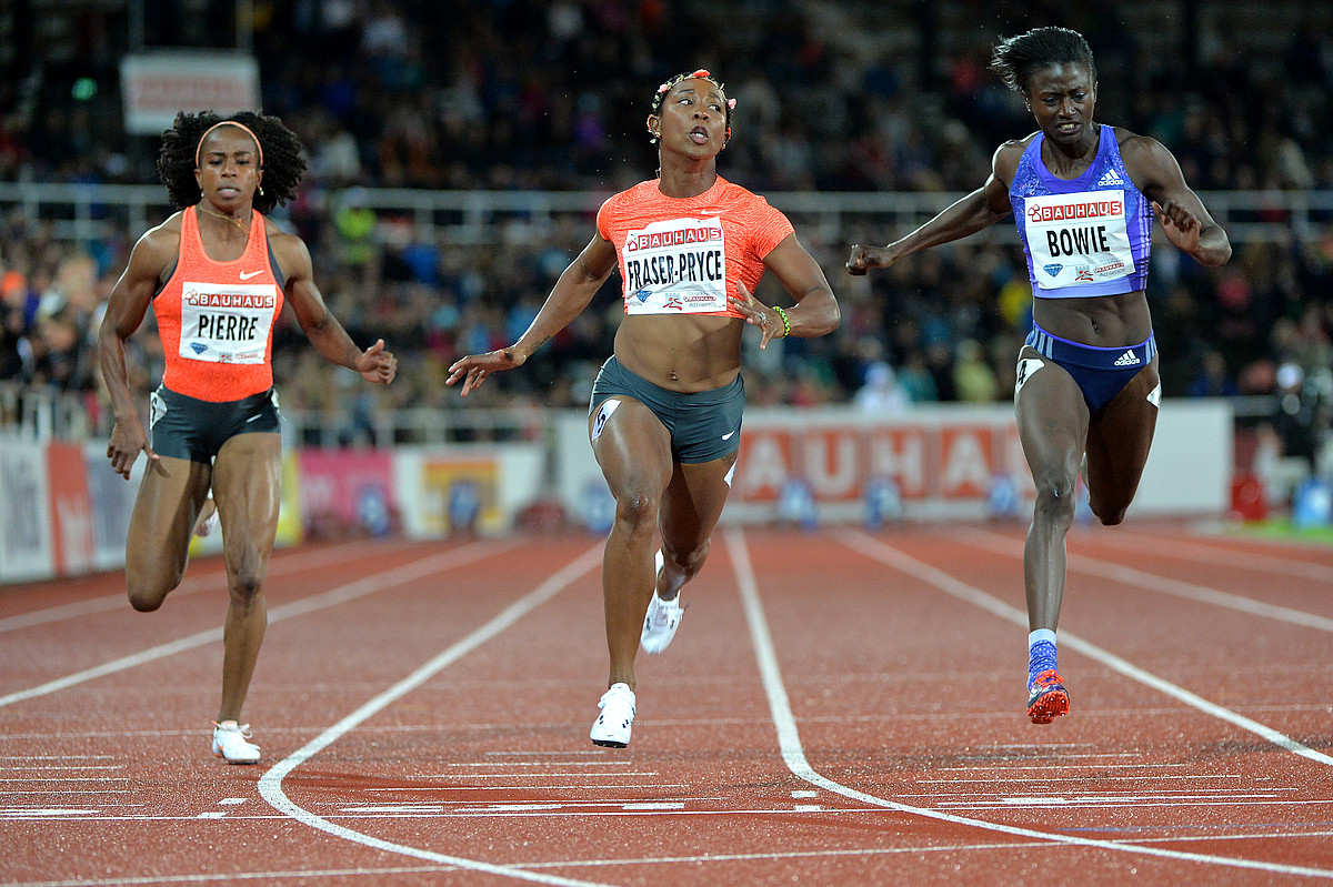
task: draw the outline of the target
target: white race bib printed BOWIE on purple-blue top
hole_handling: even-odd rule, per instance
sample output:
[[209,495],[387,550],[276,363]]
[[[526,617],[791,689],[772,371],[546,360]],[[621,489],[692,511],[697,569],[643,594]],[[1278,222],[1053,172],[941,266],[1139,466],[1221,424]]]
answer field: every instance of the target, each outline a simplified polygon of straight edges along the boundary
[[1041,289],[1100,284],[1134,273],[1124,190],[1026,197],[1024,217],[1033,276]]

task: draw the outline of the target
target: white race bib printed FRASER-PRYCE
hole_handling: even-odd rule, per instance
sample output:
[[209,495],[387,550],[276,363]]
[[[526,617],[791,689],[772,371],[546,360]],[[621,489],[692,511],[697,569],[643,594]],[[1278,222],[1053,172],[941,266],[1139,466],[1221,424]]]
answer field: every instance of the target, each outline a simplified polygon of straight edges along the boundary
[[718,218],[670,218],[625,236],[625,313],[726,310],[726,240]]

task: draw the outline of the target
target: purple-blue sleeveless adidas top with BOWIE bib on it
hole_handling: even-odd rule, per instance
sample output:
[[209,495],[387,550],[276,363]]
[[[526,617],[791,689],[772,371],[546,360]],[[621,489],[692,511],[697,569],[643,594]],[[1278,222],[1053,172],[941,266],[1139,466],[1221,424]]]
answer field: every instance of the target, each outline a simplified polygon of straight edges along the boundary
[[1028,277],[1037,298],[1133,293],[1148,285],[1152,204],[1120,158],[1116,132],[1102,124],[1097,156],[1077,178],[1057,178],[1041,160],[1037,133],[1009,188]]

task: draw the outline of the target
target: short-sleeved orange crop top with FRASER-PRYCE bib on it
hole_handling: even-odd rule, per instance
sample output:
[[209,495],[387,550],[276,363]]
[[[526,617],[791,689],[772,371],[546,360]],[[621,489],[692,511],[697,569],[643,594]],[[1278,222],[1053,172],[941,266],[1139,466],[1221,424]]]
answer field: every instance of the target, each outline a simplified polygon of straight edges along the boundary
[[764,257],[793,233],[786,216],[721,176],[697,197],[668,197],[639,182],[597,210],[616,246],[627,314],[744,317],[726,306],[736,281],[753,293]]

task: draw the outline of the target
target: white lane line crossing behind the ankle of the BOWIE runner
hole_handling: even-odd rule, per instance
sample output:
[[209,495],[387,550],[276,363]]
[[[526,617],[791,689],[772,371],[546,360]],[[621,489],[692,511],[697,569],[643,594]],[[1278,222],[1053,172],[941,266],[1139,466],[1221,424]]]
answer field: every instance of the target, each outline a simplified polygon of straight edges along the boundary
[[[842,531],[836,531],[833,535],[848,547],[860,551],[861,554],[873,561],[878,561],[880,563],[888,565],[894,570],[898,570],[900,573],[906,573],[908,575],[913,575],[921,579],[922,582],[928,582],[929,585],[933,585],[945,594],[956,597],[960,601],[974,603],[982,610],[988,610],[989,613],[998,615],[1001,619],[1006,619],[1009,622],[1013,622],[1014,625],[1022,626],[1024,630],[1028,629],[1028,614],[1025,611],[1009,606],[1000,598],[992,597],[976,586],[960,582],[948,573],[937,570],[929,563],[917,561],[916,558],[906,555],[902,551],[898,551],[897,549],[890,547],[884,542],[880,542],[878,539],[870,538],[864,533],[842,530]],[[1277,730],[1273,730],[1272,727],[1262,725],[1257,721],[1252,721],[1250,718],[1246,718],[1242,714],[1232,711],[1230,709],[1224,709],[1220,705],[1209,702],[1208,699],[1204,699],[1202,697],[1196,695],[1189,690],[1178,685],[1174,685],[1170,681],[1166,681],[1165,678],[1160,678],[1152,674],[1150,671],[1140,669],[1138,666],[1125,659],[1121,659],[1120,657],[1108,650],[1102,650],[1101,647],[1089,641],[1084,641],[1082,638],[1080,638],[1073,633],[1061,631],[1060,643],[1065,647],[1077,650],[1078,653],[1084,654],[1090,659],[1096,659],[1097,662],[1102,663],[1112,671],[1118,671],[1130,681],[1137,681],[1145,687],[1149,687],[1158,693],[1164,693],[1168,697],[1178,699],[1185,705],[1190,706],[1192,709],[1198,709],[1206,715],[1212,715],[1218,721],[1225,721],[1228,723],[1236,725],[1241,730],[1253,733],[1265,742],[1273,743],[1278,748],[1285,748],[1292,754],[1301,755],[1302,758],[1309,758],[1316,763],[1333,767],[1333,756],[1329,756],[1322,751],[1316,751],[1309,746],[1301,744],[1300,742],[1292,739],[1286,734],[1278,733]]]

